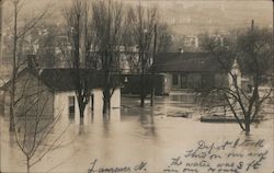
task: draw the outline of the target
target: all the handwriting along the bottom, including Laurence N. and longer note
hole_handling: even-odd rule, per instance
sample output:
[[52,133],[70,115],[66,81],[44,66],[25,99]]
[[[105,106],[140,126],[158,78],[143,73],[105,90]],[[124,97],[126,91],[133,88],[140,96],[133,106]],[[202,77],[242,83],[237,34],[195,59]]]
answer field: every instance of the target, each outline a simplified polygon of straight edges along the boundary
[[[159,165],[157,172],[165,173],[253,173],[262,172],[270,151],[264,140],[236,139],[222,142],[197,141],[183,154],[168,159],[167,165]],[[90,163],[88,173],[141,173],[149,170],[149,163],[135,165],[99,166],[99,160]],[[155,168],[155,166],[153,166]]]

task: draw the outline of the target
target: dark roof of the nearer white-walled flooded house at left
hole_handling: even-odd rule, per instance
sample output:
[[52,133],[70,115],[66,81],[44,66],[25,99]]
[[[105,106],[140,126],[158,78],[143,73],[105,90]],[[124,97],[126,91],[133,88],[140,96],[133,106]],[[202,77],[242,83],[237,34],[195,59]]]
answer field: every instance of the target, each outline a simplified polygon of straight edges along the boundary
[[[73,91],[76,90],[76,70],[69,68],[54,68],[54,69],[39,69],[38,72],[30,68],[23,69],[19,72],[18,78],[24,76],[25,73],[32,73],[35,77],[39,77],[41,81],[46,84],[52,91]],[[104,73],[99,70],[87,70],[80,69],[79,77],[87,76],[89,89],[103,88],[104,85]],[[115,84],[118,85],[119,79],[114,76]],[[9,86],[10,81],[8,81],[3,89]]]

